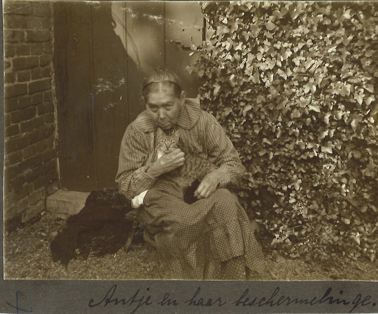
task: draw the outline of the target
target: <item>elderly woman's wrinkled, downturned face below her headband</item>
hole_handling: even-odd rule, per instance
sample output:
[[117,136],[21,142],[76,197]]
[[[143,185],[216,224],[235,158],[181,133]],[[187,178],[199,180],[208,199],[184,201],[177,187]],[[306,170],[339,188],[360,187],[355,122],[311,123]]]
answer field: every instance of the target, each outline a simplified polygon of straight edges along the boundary
[[170,129],[177,123],[181,106],[185,102],[185,92],[180,97],[166,92],[152,92],[148,95],[146,109],[153,122],[161,129]]

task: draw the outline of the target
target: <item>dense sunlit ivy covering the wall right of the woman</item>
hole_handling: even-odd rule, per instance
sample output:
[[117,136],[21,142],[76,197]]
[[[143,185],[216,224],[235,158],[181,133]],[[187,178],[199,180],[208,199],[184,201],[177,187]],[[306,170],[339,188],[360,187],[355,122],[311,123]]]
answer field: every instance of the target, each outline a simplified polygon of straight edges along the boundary
[[376,2],[206,2],[203,109],[248,174],[239,192],[284,256],[378,252]]

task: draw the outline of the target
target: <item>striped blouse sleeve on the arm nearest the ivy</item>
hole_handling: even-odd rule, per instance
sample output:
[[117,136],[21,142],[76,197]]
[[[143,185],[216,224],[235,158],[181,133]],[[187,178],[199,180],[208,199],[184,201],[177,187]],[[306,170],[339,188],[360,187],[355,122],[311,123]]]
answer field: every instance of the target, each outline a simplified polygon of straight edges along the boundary
[[240,161],[237,150],[219,122],[211,114],[208,114],[207,120],[205,145],[208,159],[219,166],[219,169],[215,171],[218,172],[221,178],[220,187],[225,187],[228,184],[237,186],[246,169]]

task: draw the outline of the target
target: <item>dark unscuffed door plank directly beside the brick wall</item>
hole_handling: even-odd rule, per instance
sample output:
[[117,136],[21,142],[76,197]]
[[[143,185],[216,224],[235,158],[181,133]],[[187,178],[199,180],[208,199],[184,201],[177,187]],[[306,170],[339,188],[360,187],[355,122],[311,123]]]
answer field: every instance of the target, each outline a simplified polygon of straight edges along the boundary
[[90,20],[87,2],[54,2],[60,182],[75,191],[95,183]]

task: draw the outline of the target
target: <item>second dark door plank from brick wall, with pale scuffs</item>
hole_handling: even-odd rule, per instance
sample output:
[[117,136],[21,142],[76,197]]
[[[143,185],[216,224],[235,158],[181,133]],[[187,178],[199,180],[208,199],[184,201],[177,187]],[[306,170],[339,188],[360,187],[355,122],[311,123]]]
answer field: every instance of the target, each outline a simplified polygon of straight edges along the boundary
[[119,147],[127,125],[127,51],[124,3],[104,1],[91,7],[95,187],[101,189],[116,186]]

